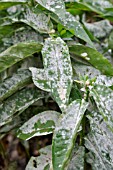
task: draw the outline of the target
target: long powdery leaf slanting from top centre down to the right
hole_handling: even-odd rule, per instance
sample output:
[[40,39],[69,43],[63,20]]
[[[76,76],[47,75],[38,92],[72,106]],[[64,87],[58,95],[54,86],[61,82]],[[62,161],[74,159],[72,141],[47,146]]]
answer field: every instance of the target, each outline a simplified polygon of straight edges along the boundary
[[78,38],[84,40],[85,42],[89,43],[92,47],[94,47],[93,43],[91,42],[90,38],[88,37],[87,33],[83,29],[82,25],[79,21],[75,19],[70,13],[66,12],[65,4],[63,0],[60,1],[50,1],[50,0],[36,0],[41,6],[46,8],[47,10],[53,12],[56,17],[51,13],[52,19],[57,18],[58,22],[65,26],[68,30],[73,30],[74,35]]

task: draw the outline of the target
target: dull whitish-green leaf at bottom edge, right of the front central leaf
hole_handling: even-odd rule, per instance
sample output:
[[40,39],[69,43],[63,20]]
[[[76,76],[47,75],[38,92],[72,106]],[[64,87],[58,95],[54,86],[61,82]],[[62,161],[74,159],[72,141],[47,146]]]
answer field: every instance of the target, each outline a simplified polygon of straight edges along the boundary
[[84,156],[85,148],[83,146],[75,146],[68,170],[84,170]]

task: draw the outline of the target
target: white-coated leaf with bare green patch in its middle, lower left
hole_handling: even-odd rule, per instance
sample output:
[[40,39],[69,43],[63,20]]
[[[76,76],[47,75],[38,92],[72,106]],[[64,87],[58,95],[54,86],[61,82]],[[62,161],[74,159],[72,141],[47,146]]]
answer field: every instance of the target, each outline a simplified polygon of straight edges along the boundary
[[28,140],[34,136],[42,136],[53,133],[58,123],[60,113],[56,111],[44,111],[33,116],[18,130],[17,137]]

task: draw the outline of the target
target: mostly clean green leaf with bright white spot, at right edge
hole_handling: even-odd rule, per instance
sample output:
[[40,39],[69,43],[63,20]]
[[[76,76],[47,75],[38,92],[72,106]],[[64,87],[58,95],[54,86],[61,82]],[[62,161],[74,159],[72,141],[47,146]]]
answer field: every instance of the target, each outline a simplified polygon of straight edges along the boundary
[[[90,64],[92,64],[96,69],[100,70],[103,74],[112,76],[113,66],[111,63],[98,51],[93,48],[84,45],[72,45],[70,48],[70,53],[85,59]],[[76,58],[76,56],[73,56]]]

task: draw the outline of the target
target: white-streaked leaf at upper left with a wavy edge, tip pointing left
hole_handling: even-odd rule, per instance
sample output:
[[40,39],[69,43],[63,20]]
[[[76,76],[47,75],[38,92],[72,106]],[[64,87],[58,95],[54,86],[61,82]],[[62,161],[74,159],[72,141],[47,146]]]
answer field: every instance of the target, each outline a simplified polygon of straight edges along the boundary
[[28,6],[21,10],[19,15],[9,17],[13,23],[23,22],[40,33],[49,33],[52,31],[53,24],[50,17],[46,16],[43,11],[36,13],[33,8]]

